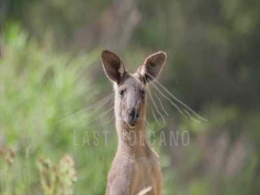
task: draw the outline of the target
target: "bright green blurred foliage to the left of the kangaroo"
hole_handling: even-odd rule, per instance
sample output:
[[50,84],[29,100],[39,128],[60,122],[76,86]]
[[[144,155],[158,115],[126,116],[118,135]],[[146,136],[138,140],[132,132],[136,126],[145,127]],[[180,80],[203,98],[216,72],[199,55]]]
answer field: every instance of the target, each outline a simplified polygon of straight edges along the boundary
[[[9,24],[0,39],[0,137],[1,145],[12,146],[16,153],[13,169],[6,170],[10,172],[7,175],[13,193],[42,193],[38,157],[48,156],[57,161],[65,153],[76,160],[79,180],[75,193],[104,193],[113,158],[109,151],[115,152],[114,146],[103,149],[104,136],[100,130],[100,145],[91,149],[94,141],[91,130],[96,127],[87,123],[89,112],[57,122],[82,110],[98,93],[91,87],[87,69],[97,61],[100,51],[79,54],[76,58],[53,53],[35,40],[28,40],[16,23]],[[90,146],[81,144],[84,131],[88,131]],[[116,140],[115,134],[113,137]],[[0,170],[1,192],[7,190],[9,194],[2,163]],[[96,182],[97,179],[100,181]]]

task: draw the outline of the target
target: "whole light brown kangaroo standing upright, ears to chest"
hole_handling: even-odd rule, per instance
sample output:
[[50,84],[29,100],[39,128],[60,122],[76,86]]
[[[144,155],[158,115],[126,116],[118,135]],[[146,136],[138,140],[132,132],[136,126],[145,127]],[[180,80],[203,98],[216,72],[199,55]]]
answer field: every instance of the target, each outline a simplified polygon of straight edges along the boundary
[[160,195],[159,156],[145,137],[146,86],[160,74],[166,53],[149,56],[134,74],[128,73],[120,57],[111,51],[104,50],[101,59],[104,72],[114,83],[118,133],[106,195]]

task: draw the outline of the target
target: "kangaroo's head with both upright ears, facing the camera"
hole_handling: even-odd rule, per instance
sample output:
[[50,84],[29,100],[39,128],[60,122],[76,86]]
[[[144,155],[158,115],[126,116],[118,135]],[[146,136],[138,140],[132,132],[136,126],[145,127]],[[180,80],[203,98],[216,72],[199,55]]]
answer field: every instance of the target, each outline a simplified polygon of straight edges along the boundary
[[138,125],[145,120],[146,85],[159,75],[166,53],[149,56],[134,74],[128,73],[120,57],[108,50],[102,52],[101,59],[107,77],[114,82],[116,119],[130,127]]

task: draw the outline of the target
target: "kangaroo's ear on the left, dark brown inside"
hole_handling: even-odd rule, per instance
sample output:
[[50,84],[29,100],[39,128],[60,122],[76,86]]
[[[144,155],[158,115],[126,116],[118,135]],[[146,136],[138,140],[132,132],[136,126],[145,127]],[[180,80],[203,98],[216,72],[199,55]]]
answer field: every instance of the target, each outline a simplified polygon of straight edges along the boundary
[[102,52],[101,59],[107,77],[119,84],[125,73],[122,60],[116,54],[108,50]]

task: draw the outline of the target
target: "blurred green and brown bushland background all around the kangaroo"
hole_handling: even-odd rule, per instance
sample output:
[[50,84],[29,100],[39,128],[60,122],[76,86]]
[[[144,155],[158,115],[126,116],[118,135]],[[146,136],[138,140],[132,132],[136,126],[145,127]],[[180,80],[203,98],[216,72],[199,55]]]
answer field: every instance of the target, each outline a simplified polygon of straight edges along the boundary
[[[52,179],[44,190],[39,163],[55,172],[64,159],[77,172],[68,176],[69,193],[105,193],[117,150],[113,111],[105,112],[113,99],[104,111],[85,109],[113,90],[103,49],[130,72],[166,51],[159,82],[207,119],[183,117],[163,98],[169,116],[161,117],[148,97],[147,137],[156,131],[163,195],[260,193],[260,1],[1,0],[1,194],[46,192]],[[184,130],[188,146],[180,144]],[[179,132],[178,146],[169,145],[170,131]],[[72,159],[60,161],[66,154]]]

